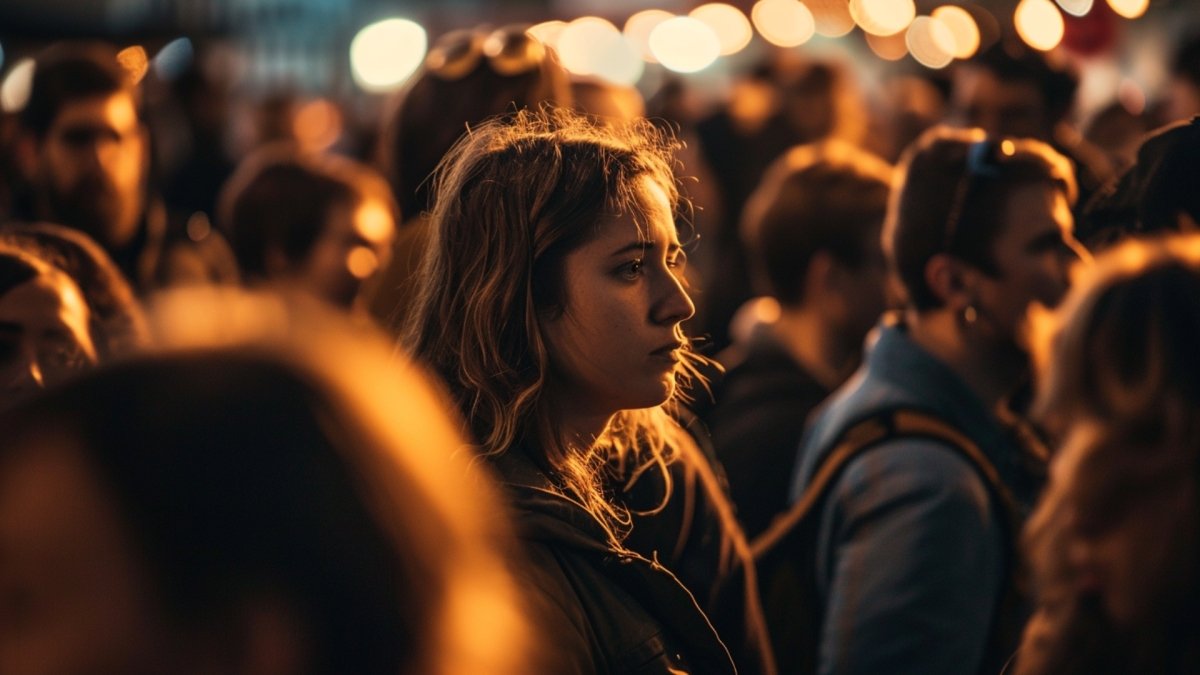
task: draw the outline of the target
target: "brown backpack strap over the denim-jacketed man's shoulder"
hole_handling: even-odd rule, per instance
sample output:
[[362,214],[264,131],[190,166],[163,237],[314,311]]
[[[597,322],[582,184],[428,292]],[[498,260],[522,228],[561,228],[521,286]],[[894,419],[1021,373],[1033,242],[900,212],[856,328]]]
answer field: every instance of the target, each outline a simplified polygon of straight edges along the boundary
[[868,416],[850,425],[832,452],[817,466],[804,494],[790,509],[775,519],[762,534],[750,542],[755,560],[774,549],[790,532],[812,516],[826,494],[851,461],[883,441],[896,438],[929,438],[941,442],[965,459],[988,485],[1003,509],[1003,521],[1009,537],[1020,528],[1020,507],[1013,491],[1000,477],[996,466],[979,446],[955,426],[918,408],[892,408]]

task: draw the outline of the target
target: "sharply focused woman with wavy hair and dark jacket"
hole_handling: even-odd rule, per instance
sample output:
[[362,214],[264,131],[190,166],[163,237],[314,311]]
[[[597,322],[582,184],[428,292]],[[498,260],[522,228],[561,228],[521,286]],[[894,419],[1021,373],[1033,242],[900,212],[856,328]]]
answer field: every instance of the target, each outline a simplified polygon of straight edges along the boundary
[[508,486],[558,673],[733,670],[691,593],[624,544],[625,490],[695,452],[672,417],[697,357],[670,157],[648,124],[522,112],[473,129],[434,184],[406,342]]

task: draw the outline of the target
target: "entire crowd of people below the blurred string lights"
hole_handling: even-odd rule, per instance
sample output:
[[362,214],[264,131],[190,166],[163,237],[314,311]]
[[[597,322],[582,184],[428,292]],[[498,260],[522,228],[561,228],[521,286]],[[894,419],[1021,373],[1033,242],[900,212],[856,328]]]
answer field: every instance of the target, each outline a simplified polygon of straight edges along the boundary
[[0,123],[0,674],[1200,670],[1200,41],[1080,129],[458,30],[236,153],[202,62]]

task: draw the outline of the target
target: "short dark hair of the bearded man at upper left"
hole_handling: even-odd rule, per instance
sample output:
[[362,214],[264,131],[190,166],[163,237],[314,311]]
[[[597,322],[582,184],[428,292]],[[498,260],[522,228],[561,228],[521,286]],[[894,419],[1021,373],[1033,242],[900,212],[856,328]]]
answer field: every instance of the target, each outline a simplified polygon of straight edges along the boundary
[[137,78],[121,66],[116,54],[116,48],[103,42],[60,42],[48,47],[35,60],[20,125],[42,139],[68,103],[125,91],[137,106]]

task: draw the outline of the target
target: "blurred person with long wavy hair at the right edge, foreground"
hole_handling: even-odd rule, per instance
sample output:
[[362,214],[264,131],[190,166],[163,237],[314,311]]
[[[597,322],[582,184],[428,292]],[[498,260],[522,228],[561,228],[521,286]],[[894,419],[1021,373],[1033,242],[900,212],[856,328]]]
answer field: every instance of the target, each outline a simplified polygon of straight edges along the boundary
[[1043,330],[1062,437],[1026,546],[1021,675],[1200,671],[1200,238],[1102,257]]

